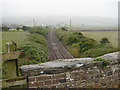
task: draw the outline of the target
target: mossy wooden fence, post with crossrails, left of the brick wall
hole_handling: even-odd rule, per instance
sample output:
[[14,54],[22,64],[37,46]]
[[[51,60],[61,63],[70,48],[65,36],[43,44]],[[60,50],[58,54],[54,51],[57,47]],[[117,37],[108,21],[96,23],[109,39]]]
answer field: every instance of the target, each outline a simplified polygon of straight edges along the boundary
[[18,59],[24,57],[23,51],[16,51],[17,44],[13,41],[6,44],[6,51],[2,53],[2,88],[27,85],[27,76],[19,76]]

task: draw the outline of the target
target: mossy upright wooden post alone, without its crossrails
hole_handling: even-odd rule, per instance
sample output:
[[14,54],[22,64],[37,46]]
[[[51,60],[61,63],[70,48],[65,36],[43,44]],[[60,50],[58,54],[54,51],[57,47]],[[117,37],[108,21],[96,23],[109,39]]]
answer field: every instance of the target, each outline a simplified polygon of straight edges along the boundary
[[[9,53],[16,51],[17,44],[15,42],[9,42],[6,43],[6,51],[8,52],[5,57],[9,57]],[[14,54],[15,56],[16,54]],[[12,56],[11,56],[12,57]],[[4,57],[3,57],[4,58]],[[17,77],[18,76],[18,57],[11,59],[8,58],[8,60],[5,60],[3,63],[4,72],[3,72],[3,78],[11,78],[11,77]]]

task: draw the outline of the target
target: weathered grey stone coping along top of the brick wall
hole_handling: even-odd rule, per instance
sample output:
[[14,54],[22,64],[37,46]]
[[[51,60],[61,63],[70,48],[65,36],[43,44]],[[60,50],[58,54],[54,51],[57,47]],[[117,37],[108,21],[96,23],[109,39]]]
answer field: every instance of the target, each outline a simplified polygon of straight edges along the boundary
[[[110,64],[116,64],[120,57],[120,52],[105,54],[97,58],[104,58]],[[24,65],[21,67],[22,75],[28,76],[41,75],[41,74],[56,74],[67,71],[72,71],[80,68],[101,67],[103,65],[100,61],[93,61],[96,58],[74,58],[74,59],[59,59],[49,61],[41,64]]]

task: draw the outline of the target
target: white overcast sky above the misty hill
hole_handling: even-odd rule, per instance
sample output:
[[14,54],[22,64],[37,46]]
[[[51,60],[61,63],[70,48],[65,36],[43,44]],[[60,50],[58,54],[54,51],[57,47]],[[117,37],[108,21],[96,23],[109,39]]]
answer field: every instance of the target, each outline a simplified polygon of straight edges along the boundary
[[2,0],[3,17],[118,17],[119,0]]

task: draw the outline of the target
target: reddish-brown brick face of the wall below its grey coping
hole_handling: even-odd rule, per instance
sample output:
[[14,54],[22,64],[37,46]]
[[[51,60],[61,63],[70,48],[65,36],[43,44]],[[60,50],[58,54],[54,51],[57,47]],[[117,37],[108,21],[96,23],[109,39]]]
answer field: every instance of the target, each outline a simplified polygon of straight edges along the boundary
[[30,88],[117,88],[117,66],[79,69],[60,74],[44,74],[28,78]]

